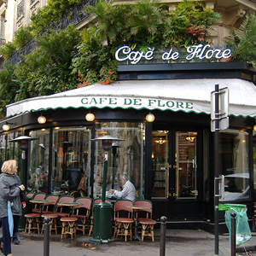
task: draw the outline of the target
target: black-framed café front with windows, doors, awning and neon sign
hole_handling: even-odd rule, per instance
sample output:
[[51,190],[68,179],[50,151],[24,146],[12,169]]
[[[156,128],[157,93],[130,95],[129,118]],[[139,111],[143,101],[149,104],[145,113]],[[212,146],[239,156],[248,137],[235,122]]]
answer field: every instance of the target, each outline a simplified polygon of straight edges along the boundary
[[[219,201],[246,204],[252,220],[256,73],[247,63],[221,61],[230,55],[230,49],[194,45],[186,61],[179,61],[174,49],[155,54],[122,46],[115,55],[117,82],[7,106],[7,119],[0,123],[1,162],[18,160],[28,190],[61,194],[83,189],[94,197],[104,152],[91,139],[119,137],[123,141],[113,142],[108,151],[107,188],[119,189],[119,174],[125,172],[137,197],[153,202],[154,219],[166,216],[167,226],[212,230],[211,113],[218,84],[226,93],[219,96],[224,119],[218,143]],[[20,147],[14,139],[21,136],[27,137]]]

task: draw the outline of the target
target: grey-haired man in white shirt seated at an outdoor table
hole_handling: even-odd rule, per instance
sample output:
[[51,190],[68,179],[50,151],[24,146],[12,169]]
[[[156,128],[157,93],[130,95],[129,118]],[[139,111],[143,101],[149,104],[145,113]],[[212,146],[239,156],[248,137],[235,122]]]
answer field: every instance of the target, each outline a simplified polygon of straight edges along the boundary
[[119,199],[121,198],[135,201],[136,189],[133,183],[131,183],[131,181],[128,179],[127,174],[123,173],[123,175],[120,175],[119,181],[122,185],[122,190],[118,191],[116,189],[109,189],[109,193]]

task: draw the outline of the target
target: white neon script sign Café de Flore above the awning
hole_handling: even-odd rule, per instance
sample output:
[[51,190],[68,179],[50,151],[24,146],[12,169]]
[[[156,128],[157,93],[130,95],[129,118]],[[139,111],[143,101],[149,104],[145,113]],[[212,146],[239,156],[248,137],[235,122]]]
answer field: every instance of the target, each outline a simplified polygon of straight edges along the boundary
[[[195,58],[203,59],[227,59],[232,55],[231,49],[212,49],[211,44],[196,44],[187,48],[187,55],[185,59],[191,61]],[[119,47],[115,52],[115,59],[117,61],[131,61],[131,64],[137,64],[139,61],[145,59],[150,61],[154,58],[154,49],[148,48],[146,52],[139,50],[131,50],[131,47],[124,45]],[[176,61],[180,58],[180,53],[173,47],[162,53],[163,61]]]

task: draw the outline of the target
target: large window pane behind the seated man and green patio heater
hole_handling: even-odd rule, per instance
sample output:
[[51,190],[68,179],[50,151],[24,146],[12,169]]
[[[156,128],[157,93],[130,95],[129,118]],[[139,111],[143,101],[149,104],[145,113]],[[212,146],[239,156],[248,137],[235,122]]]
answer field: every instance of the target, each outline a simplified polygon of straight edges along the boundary
[[[142,123],[98,123],[96,136],[110,135],[124,141],[114,142],[108,152],[108,189],[120,189],[119,175],[124,172],[137,189],[137,197],[143,198],[143,149],[144,125]],[[102,143],[96,143],[94,179],[103,175]]]

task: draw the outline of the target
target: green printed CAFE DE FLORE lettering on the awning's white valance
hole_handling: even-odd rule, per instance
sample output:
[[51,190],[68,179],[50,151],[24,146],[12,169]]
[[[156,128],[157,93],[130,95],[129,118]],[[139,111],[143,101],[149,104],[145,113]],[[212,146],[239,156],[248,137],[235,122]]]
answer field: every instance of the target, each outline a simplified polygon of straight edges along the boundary
[[163,99],[129,98],[129,97],[84,97],[81,100],[86,107],[95,108],[159,108],[193,110],[193,102],[171,101]]

